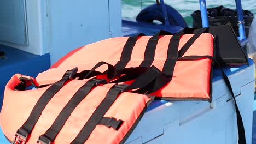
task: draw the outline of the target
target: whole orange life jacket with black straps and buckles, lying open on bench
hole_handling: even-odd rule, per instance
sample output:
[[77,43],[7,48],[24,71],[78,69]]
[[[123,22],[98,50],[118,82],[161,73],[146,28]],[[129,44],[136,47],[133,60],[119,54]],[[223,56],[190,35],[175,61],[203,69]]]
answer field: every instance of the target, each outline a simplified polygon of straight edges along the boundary
[[206,29],[110,38],[73,50],[36,79],[14,75],[1,112],[5,136],[124,143],[154,99],[211,101],[214,37]]

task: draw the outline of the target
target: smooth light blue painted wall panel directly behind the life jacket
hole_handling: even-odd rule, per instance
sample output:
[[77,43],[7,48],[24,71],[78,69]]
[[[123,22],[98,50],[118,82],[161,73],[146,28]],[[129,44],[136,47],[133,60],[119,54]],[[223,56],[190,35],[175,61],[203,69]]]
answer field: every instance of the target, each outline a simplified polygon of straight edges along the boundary
[[[48,0],[47,9],[51,64],[77,47],[110,37],[108,0]],[[116,19],[121,32],[121,17]]]

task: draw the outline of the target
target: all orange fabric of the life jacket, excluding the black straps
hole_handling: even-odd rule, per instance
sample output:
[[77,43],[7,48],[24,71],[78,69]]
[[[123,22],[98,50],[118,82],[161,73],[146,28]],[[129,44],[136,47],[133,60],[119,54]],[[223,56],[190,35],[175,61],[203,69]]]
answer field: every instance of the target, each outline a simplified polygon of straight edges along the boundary
[[[193,36],[193,34],[183,35],[179,43],[179,49]],[[154,62],[152,65],[162,70],[166,61],[167,49],[171,35],[163,36],[156,46]],[[131,61],[126,68],[138,67],[144,59],[144,52],[150,37],[139,37],[132,51]],[[78,72],[90,70],[98,62],[104,61],[115,65],[121,56],[123,47],[128,37],[111,38],[97,43],[80,47],[62,57],[49,70],[40,73],[34,81],[38,85],[46,85],[59,81],[68,69],[78,67]],[[213,36],[211,34],[201,34],[184,56],[213,56]],[[177,61],[174,68],[173,78],[168,85],[152,93],[161,99],[184,100],[200,99],[210,100],[210,74],[211,59],[199,59],[196,61]],[[107,65],[96,70],[105,71]],[[5,87],[4,101],[1,112],[1,127],[5,136],[14,140],[14,135],[30,115],[34,105],[45,90],[43,87],[26,91],[15,91],[14,87],[20,83],[20,74],[14,75]],[[106,77],[101,75],[100,77]],[[38,137],[45,133],[53,124],[55,118],[63,107],[72,98],[75,92],[84,85],[87,80],[69,80],[61,90],[55,94],[42,112],[37,124],[33,128],[28,143],[35,143]],[[130,81],[131,82],[131,81]],[[64,127],[57,135],[54,143],[70,143],[78,135],[80,129],[88,121],[106,96],[109,88],[114,84],[97,86],[92,89],[88,96],[75,108],[68,118]],[[106,117],[121,119],[124,123],[118,131],[104,125],[97,125],[85,143],[119,143],[131,129],[139,115],[146,109],[150,98],[146,95],[124,92],[119,95],[115,103],[105,114]],[[134,103],[136,101],[137,103]],[[127,110],[129,107],[129,110]]]

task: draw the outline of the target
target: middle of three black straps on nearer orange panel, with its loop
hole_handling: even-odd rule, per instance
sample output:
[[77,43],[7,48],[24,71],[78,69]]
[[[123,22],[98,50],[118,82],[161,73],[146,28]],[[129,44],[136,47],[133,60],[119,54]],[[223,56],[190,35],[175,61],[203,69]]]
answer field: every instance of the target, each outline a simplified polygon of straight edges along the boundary
[[[95,70],[102,65],[107,64],[108,69],[104,72],[107,73],[108,79],[112,79],[113,76],[115,76],[115,68],[113,65],[106,63],[106,62],[98,62],[91,70],[82,71],[78,73],[76,76],[79,76],[79,79],[88,79],[92,73],[95,72]],[[94,73],[95,74],[95,73]],[[91,80],[87,81],[85,85],[80,87],[78,91],[73,95],[71,100],[68,101],[66,106],[62,109],[60,114],[55,119],[54,123],[51,125],[51,127],[45,132],[45,134],[41,135],[38,139],[38,143],[51,143],[55,140],[57,134],[62,129],[63,125],[66,123],[67,119],[71,115],[71,113],[74,111],[75,107],[89,94],[91,89],[97,85],[107,83],[105,79],[97,79],[92,78]],[[104,121],[105,122],[105,121]],[[113,123],[113,120],[112,120]],[[108,124],[112,124],[108,123]],[[103,124],[103,123],[102,123]],[[107,125],[108,126],[108,125]],[[111,125],[110,125],[111,126]],[[115,126],[114,126],[115,127]]]

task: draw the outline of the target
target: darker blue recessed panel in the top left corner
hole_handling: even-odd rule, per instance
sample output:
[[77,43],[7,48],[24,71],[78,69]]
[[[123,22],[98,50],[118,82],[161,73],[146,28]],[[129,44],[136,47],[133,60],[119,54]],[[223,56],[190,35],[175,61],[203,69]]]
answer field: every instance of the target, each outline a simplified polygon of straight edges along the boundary
[[25,0],[0,1],[0,41],[28,44]]

